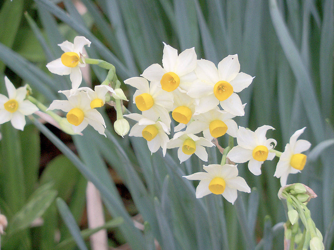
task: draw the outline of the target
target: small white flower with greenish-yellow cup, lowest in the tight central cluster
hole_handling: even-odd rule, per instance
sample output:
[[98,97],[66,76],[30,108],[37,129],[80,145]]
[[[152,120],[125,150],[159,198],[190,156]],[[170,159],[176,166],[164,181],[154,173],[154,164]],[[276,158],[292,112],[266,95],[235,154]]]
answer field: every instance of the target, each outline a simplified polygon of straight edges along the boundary
[[207,161],[208,154],[203,146],[212,147],[214,144],[203,137],[187,134],[184,131],[175,133],[167,144],[167,148],[179,148],[177,150],[177,156],[179,157],[180,163],[189,159],[192,154],[197,155],[202,161]]

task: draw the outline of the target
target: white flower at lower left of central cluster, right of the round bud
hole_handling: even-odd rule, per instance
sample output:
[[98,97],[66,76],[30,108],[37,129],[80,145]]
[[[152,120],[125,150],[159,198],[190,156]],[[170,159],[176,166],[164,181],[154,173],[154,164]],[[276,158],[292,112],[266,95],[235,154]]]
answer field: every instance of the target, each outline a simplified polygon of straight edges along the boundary
[[162,148],[162,153],[165,156],[167,143],[169,142],[169,129],[166,124],[161,121],[152,121],[149,118],[140,114],[124,115],[127,118],[138,121],[130,131],[129,136],[144,137],[147,140],[147,146],[151,153],[155,153]]

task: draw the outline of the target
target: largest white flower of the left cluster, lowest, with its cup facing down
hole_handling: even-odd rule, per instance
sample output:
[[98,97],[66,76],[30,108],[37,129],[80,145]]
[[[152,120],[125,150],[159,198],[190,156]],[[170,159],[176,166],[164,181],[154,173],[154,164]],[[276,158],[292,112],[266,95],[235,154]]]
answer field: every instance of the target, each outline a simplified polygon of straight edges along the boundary
[[72,124],[74,133],[81,132],[90,124],[100,134],[105,135],[105,121],[102,115],[94,108],[91,108],[91,99],[85,91],[76,91],[70,94],[69,90],[59,91],[68,100],[54,100],[47,110],[60,109],[67,112],[67,121]]

